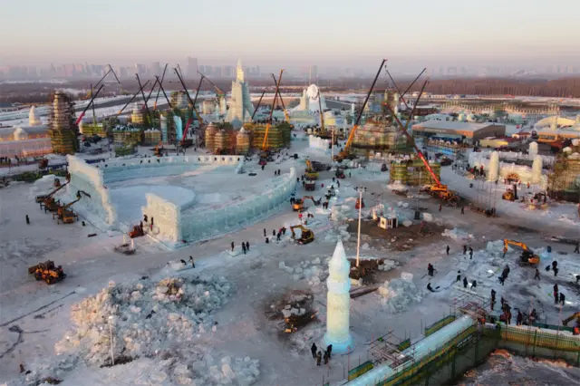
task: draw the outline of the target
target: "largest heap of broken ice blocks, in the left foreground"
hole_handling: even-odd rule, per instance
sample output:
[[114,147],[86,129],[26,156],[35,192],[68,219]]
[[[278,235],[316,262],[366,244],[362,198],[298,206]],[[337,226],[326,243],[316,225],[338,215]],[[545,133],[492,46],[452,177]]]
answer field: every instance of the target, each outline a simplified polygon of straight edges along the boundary
[[68,355],[28,374],[27,381],[47,375],[62,379],[80,362],[110,366],[112,336],[116,363],[155,359],[155,366],[142,369],[141,379],[155,378],[148,384],[250,385],[259,376],[258,361],[224,357],[215,362],[206,345],[196,344],[203,334],[216,331],[212,313],[231,292],[223,276],[111,283],[73,306],[76,329],[55,345],[57,353]]

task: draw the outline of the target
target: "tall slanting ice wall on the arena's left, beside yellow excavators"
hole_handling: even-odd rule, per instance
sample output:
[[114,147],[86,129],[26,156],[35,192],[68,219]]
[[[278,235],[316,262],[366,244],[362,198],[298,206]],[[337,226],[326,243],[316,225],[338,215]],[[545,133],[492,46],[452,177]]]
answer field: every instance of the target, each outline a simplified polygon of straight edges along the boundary
[[[117,221],[117,214],[111,204],[109,190],[104,185],[102,170],[87,164],[83,159],[76,156],[66,156],[71,173],[71,182],[67,186],[67,192],[71,197],[76,196],[78,190],[82,190],[91,197],[82,196],[81,201],[74,208],[84,217],[91,215],[99,217],[108,226]],[[88,213],[83,213],[83,212]]]

